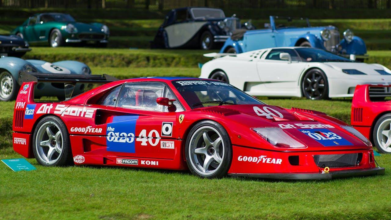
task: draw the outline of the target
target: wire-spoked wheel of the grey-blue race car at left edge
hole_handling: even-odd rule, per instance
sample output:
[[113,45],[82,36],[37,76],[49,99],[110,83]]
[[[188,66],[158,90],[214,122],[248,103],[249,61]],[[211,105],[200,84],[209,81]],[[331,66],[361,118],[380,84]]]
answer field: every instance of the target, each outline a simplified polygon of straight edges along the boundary
[[11,101],[16,98],[19,85],[7,70],[0,70],[0,100]]

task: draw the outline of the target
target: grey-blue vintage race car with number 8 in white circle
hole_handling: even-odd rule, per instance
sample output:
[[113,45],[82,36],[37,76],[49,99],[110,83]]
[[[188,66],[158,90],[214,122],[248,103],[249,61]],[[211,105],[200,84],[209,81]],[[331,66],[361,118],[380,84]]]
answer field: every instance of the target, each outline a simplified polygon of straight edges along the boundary
[[[0,58],[0,101],[11,101],[16,98],[20,88],[18,82],[19,71],[52,74],[91,74],[90,68],[78,61],[66,60],[49,63],[42,60],[2,57]],[[73,95],[80,94],[90,86],[92,85],[77,84],[75,87],[70,87],[64,83],[38,83],[34,89],[34,97],[39,98],[50,94],[50,96],[56,96],[63,100],[66,94],[72,92]]]

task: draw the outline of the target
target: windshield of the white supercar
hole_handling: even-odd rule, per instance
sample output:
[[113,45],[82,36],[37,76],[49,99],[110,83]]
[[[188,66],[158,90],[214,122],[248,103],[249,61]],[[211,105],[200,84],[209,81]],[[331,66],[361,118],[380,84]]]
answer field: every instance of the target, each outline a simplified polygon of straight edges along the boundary
[[317,48],[297,48],[296,51],[303,62],[353,62],[348,58]]

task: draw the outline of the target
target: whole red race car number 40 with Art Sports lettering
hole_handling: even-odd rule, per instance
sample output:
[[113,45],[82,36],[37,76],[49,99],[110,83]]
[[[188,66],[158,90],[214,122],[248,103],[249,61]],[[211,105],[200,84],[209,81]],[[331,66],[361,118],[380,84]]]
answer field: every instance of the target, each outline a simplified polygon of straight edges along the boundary
[[[57,75],[43,79],[67,81]],[[75,77],[91,83],[86,78],[93,76]],[[190,170],[203,178],[384,174],[371,143],[348,124],[321,112],[266,105],[222,81],[126,79],[39,103],[33,99],[39,79],[20,78],[13,147],[43,166]]]

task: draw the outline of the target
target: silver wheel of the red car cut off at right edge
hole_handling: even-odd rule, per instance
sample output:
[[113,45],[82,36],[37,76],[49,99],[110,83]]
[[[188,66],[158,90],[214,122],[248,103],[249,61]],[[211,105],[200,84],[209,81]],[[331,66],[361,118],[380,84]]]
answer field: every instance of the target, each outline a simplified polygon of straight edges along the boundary
[[391,153],[391,113],[380,117],[373,127],[373,144],[380,153]]

